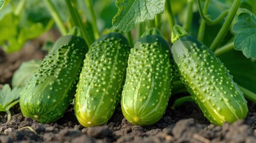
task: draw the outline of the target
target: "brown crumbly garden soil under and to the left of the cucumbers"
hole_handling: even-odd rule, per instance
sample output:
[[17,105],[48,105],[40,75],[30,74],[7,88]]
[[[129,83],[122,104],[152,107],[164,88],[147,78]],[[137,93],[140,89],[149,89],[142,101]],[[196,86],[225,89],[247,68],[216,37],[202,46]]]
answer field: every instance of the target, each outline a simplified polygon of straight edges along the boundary
[[[26,43],[14,54],[0,49],[0,88],[5,83],[11,85],[14,71],[23,61],[44,58],[46,52],[39,47],[45,37]],[[214,126],[194,103],[171,108],[178,96],[182,95],[171,97],[162,119],[151,126],[131,125],[119,105],[106,125],[84,128],[76,120],[72,104],[57,122],[41,124],[24,117],[17,104],[11,108],[10,122],[4,112],[0,113],[0,142],[256,142],[256,104],[248,101],[245,120]]]

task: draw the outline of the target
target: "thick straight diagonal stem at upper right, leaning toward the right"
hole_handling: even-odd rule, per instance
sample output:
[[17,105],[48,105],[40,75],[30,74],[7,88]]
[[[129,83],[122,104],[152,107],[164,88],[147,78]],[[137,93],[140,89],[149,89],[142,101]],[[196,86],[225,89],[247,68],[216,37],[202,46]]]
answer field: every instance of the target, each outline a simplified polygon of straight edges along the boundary
[[236,11],[238,11],[240,2],[241,2],[241,0],[234,0],[232,7],[230,9],[230,12],[227,15],[227,18],[223,23],[223,26],[221,27],[216,38],[214,39],[211,46],[209,47],[212,51],[215,51],[215,49],[217,49],[218,46],[220,46],[221,41],[223,40],[224,36],[226,35],[227,31],[229,30],[230,24],[232,23],[235,15],[236,15]]

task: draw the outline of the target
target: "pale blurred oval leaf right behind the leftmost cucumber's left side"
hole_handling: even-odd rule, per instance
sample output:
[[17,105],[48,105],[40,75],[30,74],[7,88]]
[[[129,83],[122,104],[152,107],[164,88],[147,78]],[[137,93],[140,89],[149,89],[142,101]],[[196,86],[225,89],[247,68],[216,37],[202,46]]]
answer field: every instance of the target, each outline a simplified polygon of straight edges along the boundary
[[42,60],[30,60],[23,62],[14,72],[11,85],[13,88],[21,88],[30,79],[32,74],[38,70]]

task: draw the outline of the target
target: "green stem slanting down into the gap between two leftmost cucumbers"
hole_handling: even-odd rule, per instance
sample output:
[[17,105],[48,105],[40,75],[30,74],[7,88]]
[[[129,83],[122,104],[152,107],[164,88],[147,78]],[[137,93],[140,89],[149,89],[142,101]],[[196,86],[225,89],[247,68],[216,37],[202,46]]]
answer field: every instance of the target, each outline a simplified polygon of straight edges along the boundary
[[66,4],[69,9],[71,20],[75,26],[78,26],[81,29],[82,38],[85,39],[87,46],[90,47],[92,40],[90,39],[87,29],[85,29],[84,23],[82,22],[82,18],[80,17],[77,8],[73,6],[70,0],[66,0]]

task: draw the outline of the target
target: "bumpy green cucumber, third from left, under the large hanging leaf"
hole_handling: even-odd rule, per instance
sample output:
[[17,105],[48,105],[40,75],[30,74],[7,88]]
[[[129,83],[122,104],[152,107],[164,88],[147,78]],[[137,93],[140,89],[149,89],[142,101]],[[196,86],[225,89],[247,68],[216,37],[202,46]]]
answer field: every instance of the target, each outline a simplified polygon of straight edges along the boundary
[[158,122],[171,96],[172,62],[168,43],[158,35],[147,35],[135,43],[129,55],[121,107],[134,125]]

